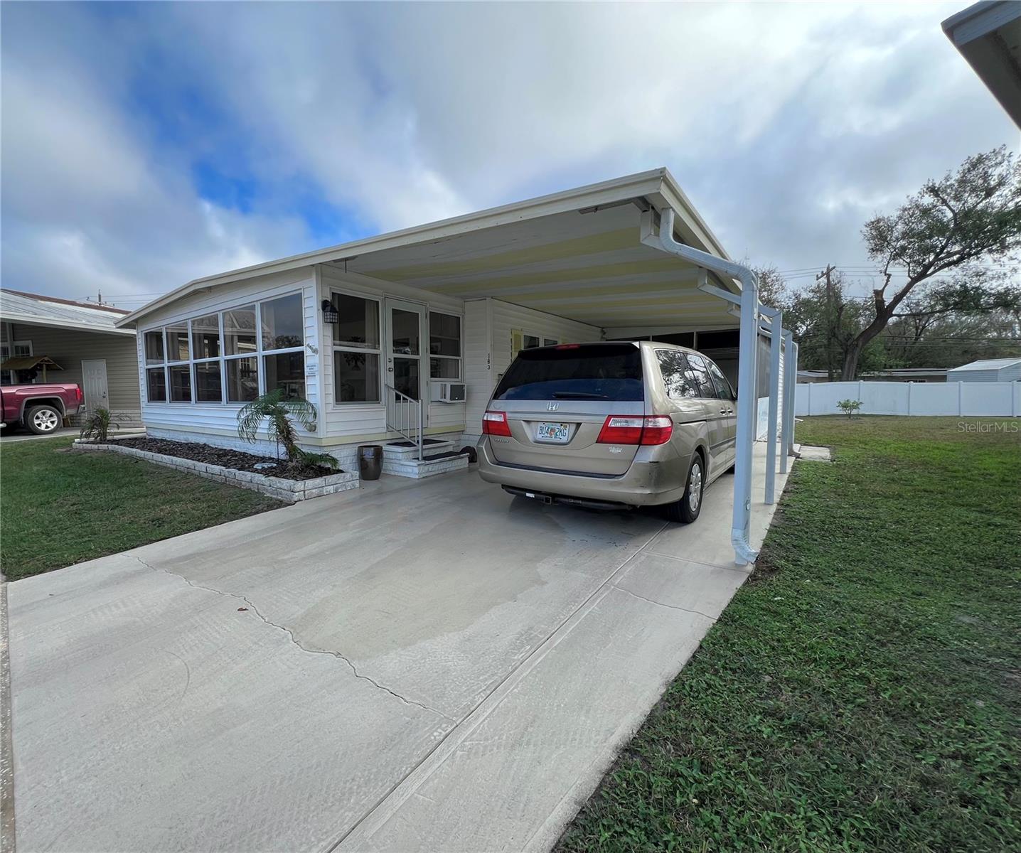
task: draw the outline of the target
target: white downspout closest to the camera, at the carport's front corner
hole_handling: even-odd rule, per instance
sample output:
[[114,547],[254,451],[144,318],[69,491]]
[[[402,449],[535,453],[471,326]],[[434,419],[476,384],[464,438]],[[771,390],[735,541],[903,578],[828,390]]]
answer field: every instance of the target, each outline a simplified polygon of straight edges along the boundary
[[[759,280],[748,267],[731,260],[711,255],[674,240],[674,210],[668,207],[660,212],[660,231],[652,230],[652,211],[642,214],[641,242],[653,249],[683,258],[689,263],[704,267],[720,275],[736,279],[741,283],[741,332],[738,348],[737,373],[737,457],[734,460],[734,515],[731,522],[730,543],[734,547],[734,561],[738,565],[755,562],[758,552],[749,542],[751,526],[751,455],[756,440],[756,357],[759,340]],[[706,292],[709,286],[707,285]],[[733,296],[733,295],[731,295]],[[725,297],[726,298],[726,297]],[[727,301],[731,301],[729,298]]]

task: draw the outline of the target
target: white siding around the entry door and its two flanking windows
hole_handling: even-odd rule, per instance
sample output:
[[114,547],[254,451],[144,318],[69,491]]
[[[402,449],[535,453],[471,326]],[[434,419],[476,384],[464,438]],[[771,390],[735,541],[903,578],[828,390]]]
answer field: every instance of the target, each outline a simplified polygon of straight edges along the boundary
[[[465,303],[463,300],[433,293],[432,291],[420,290],[405,285],[384,282],[380,279],[373,279],[369,275],[355,273],[345,273],[333,267],[319,267],[319,280],[321,295],[320,300],[329,299],[332,290],[345,291],[347,293],[358,294],[380,300],[380,323],[385,325],[385,299],[391,297],[395,299],[405,299],[410,302],[424,303],[429,310],[443,311],[449,314],[457,314],[463,317],[461,322],[461,347],[464,350],[465,336],[467,334],[468,322],[464,318]],[[341,439],[343,441],[383,441],[390,436],[386,431],[386,410],[381,404],[342,404],[334,403],[333,391],[333,350],[332,350],[332,330],[326,329],[326,323],[322,322],[322,312],[320,312],[321,340],[324,342],[322,372],[323,372],[323,412],[325,423],[325,437],[328,439]],[[428,341],[429,319],[426,317],[426,333]],[[465,353],[461,355],[461,372],[465,371]],[[428,357],[424,359],[424,369],[428,371]],[[386,371],[386,356],[381,355],[380,369]],[[430,399],[431,387],[427,377],[426,399]],[[465,404],[464,403],[429,403],[426,411],[426,432],[430,435],[437,433],[459,433],[465,426]],[[396,436],[396,434],[392,434]]]

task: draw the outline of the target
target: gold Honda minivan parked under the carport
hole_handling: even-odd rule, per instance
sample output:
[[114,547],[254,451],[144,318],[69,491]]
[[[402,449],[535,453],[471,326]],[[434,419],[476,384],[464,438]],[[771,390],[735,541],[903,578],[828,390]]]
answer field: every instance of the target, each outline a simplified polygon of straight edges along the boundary
[[736,395],[694,350],[655,341],[522,350],[486,407],[479,473],[514,495],[663,506],[693,521],[734,464]]

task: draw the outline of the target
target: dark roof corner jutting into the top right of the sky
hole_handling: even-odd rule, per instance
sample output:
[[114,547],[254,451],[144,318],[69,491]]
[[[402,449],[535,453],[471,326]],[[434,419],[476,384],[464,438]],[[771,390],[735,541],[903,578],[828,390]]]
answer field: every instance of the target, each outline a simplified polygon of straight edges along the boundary
[[1021,2],[976,3],[942,26],[946,38],[1021,128]]

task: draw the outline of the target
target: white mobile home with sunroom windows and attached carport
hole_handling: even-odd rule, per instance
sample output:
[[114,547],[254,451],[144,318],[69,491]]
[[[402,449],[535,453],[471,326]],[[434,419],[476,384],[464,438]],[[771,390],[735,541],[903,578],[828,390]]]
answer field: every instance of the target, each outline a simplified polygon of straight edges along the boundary
[[727,258],[657,169],[191,282],[119,321],[146,429],[244,448],[238,410],[282,389],[319,410],[302,444],[342,464],[366,443],[456,450],[520,349],[601,339],[690,339],[736,381],[734,306],[707,287],[739,286],[643,242],[667,208],[678,240]]

